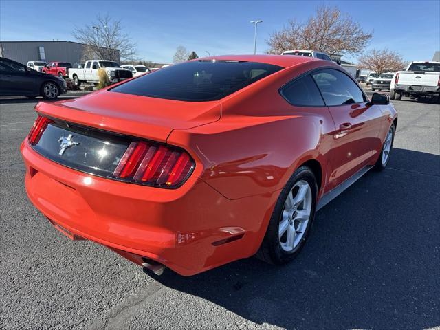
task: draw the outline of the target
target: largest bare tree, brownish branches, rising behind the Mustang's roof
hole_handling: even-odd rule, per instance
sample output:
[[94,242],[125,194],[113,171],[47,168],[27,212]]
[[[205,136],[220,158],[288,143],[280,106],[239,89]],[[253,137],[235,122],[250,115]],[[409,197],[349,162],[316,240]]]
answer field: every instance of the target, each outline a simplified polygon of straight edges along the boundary
[[296,20],[271,34],[267,44],[269,54],[285,50],[318,50],[329,56],[359,54],[373,37],[364,32],[358,22],[336,7],[321,6],[306,22]]

